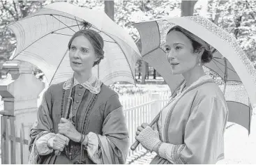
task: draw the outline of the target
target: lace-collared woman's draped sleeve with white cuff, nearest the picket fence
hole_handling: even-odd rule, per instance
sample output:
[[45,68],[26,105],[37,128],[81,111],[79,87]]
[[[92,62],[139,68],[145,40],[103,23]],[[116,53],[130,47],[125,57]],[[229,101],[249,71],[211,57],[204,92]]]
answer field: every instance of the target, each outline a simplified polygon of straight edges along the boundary
[[128,129],[118,95],[112,95],[105,105],[103,134],[89,133],[86,148],[96,164],[125,164],[128,153]]

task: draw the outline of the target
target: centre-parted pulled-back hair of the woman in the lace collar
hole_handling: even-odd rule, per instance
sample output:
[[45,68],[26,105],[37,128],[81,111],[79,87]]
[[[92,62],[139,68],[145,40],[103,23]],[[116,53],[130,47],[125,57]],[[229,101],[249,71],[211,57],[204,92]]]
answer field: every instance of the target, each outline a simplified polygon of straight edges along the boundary
[[98,65],[100,63],[100,61],[104,58],[104,51],[103,51],[104,40],[103,40],[103,38],[96,31],[93,31],[91,29],[82,29],[80,31],[77,31],[72,36],[72,38],[70,38],[70,40],[68,42],[68,49],[70,49],[71,43],[78,36],[84,36],[91,42],[91,45],[93,46],[93,49],[99,58],[98,61],[93,63],[93,66]]

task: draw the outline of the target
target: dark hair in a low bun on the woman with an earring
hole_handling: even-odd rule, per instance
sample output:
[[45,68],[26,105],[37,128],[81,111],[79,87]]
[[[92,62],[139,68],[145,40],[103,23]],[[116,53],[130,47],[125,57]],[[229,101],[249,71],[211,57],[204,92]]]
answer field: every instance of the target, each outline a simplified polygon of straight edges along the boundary
[[195,36],[195,34],[191,33],[190,31],[183,29],[181,26],[172,27],[172,29],[170,29],[168,31],[168,33],[170,33],[171,31],[179,31],[179,32],[183,33],[191,41],[194,53],[199,52],[200,49],[204,48],[204,52],[201,57],[202,63],[211,62],[211,60],[213,58],[213,54],[211,52],[211,47],[207,42],[205,42],[198,36]]

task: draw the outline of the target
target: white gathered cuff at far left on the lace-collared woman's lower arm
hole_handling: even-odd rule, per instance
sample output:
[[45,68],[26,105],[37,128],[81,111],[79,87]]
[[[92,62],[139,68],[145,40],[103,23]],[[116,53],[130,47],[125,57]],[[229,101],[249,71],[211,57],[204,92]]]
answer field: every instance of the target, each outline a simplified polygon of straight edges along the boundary
[[53,151],[52,148],[49,148],[47,141],[54,136],[55,136],[54,133],[48,133],[40,137],[36,141],[36,150],[38,151],[39,155],[48,155]]

